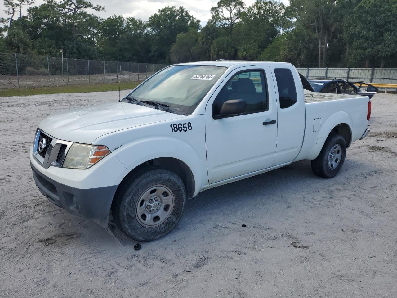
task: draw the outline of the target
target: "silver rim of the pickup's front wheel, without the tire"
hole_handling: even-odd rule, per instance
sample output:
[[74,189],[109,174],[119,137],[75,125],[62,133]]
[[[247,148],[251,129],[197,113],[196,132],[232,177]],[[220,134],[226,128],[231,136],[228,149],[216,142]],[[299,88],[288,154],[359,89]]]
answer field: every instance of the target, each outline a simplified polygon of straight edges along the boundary
[[165,185],[155,185],[143,192],[137,201],[135,216],[142,226],[155,228],[170,217],[174,205],[172,190]]

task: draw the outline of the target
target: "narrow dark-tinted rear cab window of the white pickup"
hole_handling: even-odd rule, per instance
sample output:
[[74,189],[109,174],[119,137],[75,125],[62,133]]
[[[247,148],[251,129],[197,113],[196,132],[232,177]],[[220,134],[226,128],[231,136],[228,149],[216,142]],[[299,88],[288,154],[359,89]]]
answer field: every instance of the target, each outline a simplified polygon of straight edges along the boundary
[[297,102],[295,80],[288,68],[275,68],[280,108],[289,108]]

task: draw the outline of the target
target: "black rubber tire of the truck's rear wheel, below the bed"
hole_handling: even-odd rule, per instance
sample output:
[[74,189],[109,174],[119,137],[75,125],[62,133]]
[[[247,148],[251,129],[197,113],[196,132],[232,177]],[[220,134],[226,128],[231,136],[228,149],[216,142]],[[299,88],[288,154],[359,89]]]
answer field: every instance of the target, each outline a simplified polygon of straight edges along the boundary
[[[337,147],[337,145],[339,145],[339,147]],[[328,162],[330,161],[330,153],[331,153],[331,149],[333,148],[340,149],[341,152],[337,166],[331,168],[328,165]],[[312,170],[314,174],[324,178],[335,177],[336,174],[341,170],[343,163],[345,162],[346,148],[347,148],[346,141],[341,135],[336,133],[330,134],[326,139],[324,146],[322,147],[318,157],[312,160]],[[338,152],[338,150],[335,152]]]

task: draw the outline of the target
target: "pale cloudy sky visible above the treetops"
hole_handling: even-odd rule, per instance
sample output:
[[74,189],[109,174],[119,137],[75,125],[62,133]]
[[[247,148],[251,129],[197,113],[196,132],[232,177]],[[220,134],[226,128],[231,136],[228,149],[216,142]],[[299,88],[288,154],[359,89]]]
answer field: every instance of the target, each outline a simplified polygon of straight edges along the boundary
[[[4,13],[4,3],[0,0],[0,17],[7,17]],[[123,17],[138,17],[143,21],[147,21],[150,15],[158,12],[159,9],[165,6],[183,6],[189,12],[201,21],[201,25],[205,25],[210,19],[210,9],[212,6],[216,6],[217,0],[91,0],[93,4],[104,6],[106,12],[95,12],[91,10],[94,14],[100,17],[106,18],[111,15],[123,15]],[[281,0],[284,4],[288,4],[289,0]],[[42,0],[36,0],[35,6],[39,6],[44,3]],[[254,3],[254,0],[246,0],[245,4],[250,6]],[[25,11],[22,14],[26,14]],[[89,10],[90,11],[90,10]],[[16,16],[14,17],[14,19]]]

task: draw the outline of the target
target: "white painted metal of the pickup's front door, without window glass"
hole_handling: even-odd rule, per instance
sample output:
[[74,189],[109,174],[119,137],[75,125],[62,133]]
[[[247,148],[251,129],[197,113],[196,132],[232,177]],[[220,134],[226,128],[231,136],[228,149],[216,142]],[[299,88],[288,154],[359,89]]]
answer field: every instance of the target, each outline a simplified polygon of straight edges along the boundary
[[[238,68],[241,72],[252,67]],[[258,68],[256,68],[258,69]],[[277,125],[262,123],[277,120],[277,103],[270,69],[260,67],[266,74],[269,108],[267,111],[223,119],[212,118],[212,104],[224,84],[220,85],[206,106],[205,129],[209,183],[269,168],[274,164]],[[235,72],[236,72],[235,71]],[[226,83],[235,72],[225,77]]]

